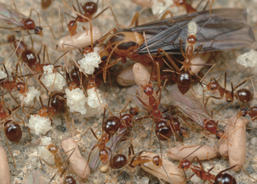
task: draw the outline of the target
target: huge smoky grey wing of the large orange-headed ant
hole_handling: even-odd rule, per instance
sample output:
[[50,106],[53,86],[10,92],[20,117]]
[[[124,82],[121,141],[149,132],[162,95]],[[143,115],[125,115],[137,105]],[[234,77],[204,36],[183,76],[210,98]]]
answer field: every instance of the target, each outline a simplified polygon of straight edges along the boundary
[[[158,48],[163,48],[168,54],[180,54],[179,38],[183,39],[182,48],[186,48],[189,21],[195,21],[197,27],[200,28],[208,19],[210,19],[210,11],[205,10],[172,17],[176,23],[170,19],[163,19],[131,28],[131,30],[146,33],[146,43],[151,54],[156,54]],[[181,27],[186,31],[182,30]],[[237,35],[241,35],[241,39],[238,39]],[[243,9],[224,8],[212,10],[212,20],[197,33],[195,47],[197,48],[204,43],[201,52],[232,50],[249,45],[254,41],[254,33],[247,24],[245,11]],[[148,50],[144,43],[137,49],[137,52],[148,54]]]

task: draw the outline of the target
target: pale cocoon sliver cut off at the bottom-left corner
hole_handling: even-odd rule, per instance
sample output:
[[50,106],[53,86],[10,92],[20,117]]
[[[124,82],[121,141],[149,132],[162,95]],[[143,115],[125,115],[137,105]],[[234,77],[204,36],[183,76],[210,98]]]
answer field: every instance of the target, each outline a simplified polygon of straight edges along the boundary
[[7,155],[4,148],[0,145],[0,183],[10,183],[10,170]]

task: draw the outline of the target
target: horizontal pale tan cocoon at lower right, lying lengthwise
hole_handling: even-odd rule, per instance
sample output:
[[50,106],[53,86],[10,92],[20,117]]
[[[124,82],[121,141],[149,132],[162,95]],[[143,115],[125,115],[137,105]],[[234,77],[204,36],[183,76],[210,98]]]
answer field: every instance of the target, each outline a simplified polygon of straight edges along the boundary
[[[197,148],[200,146],[201,145],[181,145],[177,147],[172,147],[168,150],[167,154],[170,159],[177,161],[181,161],[185,158],[188,159],[188,161],[192,161],[192,159],[194,159],[194,156],[197,156],[200,161],[203,161],[207,159],[213,159],[219,154],[215,147],[211,147],[208,145],[203,145],[199,150],[197,150]],[[183,150],[181,150],[182,148]],[[189,154],[190,156],[188,156]]]

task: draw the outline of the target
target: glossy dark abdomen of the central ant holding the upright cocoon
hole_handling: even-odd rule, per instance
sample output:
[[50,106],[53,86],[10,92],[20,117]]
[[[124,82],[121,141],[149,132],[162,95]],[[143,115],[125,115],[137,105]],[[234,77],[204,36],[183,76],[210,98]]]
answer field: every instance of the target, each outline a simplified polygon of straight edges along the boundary
[[170,136],[172,135],[172,130],[170,125],[166,123],[166,121],[158,121],[155,126],[155,134],[161,141],[168,141],[170,139]]

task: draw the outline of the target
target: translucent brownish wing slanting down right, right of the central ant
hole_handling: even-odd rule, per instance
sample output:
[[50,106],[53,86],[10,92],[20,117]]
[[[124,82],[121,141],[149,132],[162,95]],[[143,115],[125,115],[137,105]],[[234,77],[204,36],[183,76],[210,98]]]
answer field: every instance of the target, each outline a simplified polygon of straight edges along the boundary
[[192,92],[181,94],[177,85],[172,85],[167,94],[168,99],[172,101],[173,105],[179,106],[179,110],[204,127],[203,119],[212,119],[204,110],[203,105],[199,102],[196,96]]

